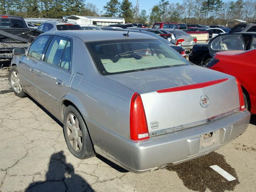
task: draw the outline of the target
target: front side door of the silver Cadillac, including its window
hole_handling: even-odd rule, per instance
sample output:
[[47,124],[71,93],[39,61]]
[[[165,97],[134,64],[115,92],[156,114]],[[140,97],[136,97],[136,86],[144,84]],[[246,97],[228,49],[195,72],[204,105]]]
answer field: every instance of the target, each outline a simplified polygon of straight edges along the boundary
[[38,99],[38,95],[36,94],[35,69],[40,61],[49,38],[50,35],[42,35],[36,38],[36,40],[34,40],[30,45],[27,55],[21,56],[19,59],[18,70],[22,86],[24,90],[36,100]]

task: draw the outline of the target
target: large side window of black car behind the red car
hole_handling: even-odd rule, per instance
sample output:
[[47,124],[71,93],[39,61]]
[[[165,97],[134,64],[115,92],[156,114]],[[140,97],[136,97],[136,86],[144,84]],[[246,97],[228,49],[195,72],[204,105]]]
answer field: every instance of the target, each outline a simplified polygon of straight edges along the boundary
[[212,38],[208,44],[210,56],[213,57],[216,52],[227,50],[246,50],[244,38],[242,35],[225,35],[219,34],[215,38]]

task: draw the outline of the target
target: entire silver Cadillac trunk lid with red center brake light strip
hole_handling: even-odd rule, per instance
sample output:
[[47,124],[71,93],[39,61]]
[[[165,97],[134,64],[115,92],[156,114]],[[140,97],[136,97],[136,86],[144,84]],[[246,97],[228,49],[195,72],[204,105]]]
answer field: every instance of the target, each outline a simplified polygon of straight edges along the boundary
[[234,77],[198,66],[106,77],[141,95],[150,136],[204,124],[239,110]]

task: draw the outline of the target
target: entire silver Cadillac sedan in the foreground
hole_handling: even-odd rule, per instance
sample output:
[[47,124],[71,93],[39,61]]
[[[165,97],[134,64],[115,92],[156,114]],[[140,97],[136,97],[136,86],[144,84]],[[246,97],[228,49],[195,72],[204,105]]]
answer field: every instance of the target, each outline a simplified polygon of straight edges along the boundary
[[192,65],[150,35],[46,32],[13,53],[14,93],[60,120],[80,159],[100,154],[131,172],[164,169],[224,146],[250,121],[233,76]]

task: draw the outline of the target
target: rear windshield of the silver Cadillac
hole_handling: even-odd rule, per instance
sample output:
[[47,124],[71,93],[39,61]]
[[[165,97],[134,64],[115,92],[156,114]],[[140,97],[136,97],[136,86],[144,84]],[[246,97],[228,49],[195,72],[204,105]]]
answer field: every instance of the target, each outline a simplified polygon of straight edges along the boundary
[[111,40],[87,42],[102,75],[190,65],[160,40]]

